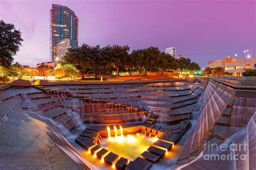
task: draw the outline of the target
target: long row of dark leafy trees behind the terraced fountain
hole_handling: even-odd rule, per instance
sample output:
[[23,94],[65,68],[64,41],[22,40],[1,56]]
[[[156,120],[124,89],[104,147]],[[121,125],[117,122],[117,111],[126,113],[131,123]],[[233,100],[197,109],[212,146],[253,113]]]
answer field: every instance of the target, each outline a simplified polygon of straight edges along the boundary
[[129,55],[130,47],[120,45],[99,45],[90,46],[82,44],[77,48],[70,48],[69,52],[63,57],[65,63],[75,65],[82,72],[82,78],[86,69],[91,69],[97,78],[98,72],[109,73],[112,69],[120,75],[122,71],[129,73],[137,69],[139,73],[146,76],[148,69],[160,70],[163,74],[166,70],[180,69],[181,74],[184,69],[190,71],[200,70],[197,63],[189,58],[173,58],[165,52],[160,52],[158,47],[148,47],[146,49],[133,50]]

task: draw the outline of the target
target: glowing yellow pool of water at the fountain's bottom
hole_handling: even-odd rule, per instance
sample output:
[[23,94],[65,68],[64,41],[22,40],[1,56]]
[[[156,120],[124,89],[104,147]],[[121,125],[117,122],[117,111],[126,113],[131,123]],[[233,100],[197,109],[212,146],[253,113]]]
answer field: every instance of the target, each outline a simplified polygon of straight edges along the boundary
[[134,160],[150,147],[157,138],[149,138],[144,134],[118,136],[103,139],[100,146],[128,160]]

